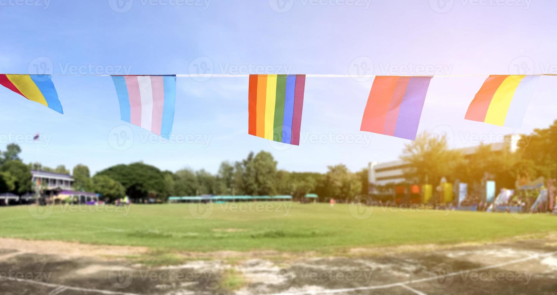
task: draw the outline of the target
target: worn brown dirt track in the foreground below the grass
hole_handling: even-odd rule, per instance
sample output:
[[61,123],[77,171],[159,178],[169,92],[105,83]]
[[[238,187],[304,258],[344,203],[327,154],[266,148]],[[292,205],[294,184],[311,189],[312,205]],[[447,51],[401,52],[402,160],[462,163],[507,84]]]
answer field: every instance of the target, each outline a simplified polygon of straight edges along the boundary
[[[107,259],[95,247],[122,257],[146,251],[0,239],[0,294],[557,294],[555,236],[435,251],[284,261],[254,255],[156,268]],[[223,287],[231,269],[245,281],[236,291]]]

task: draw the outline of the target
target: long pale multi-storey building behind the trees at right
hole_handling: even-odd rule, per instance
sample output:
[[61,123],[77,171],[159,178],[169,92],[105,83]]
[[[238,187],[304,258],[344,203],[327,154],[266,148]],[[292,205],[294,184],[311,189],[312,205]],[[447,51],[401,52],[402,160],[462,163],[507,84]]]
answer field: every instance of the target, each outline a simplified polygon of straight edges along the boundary
[[[502,143],[492,143],[489,146],[491,151],[500,152],[508,151],[515,153],[519,149],[519,142],[521,139],[520,134],[511,134],[504,137],[505,140]],[[465,157],[474,154],[477,150],[476,147],[466,147],[460,149]],[[402,160],[395,160],[390,162],[370,162],[369,163],[369,174],[368,181],[370,184],[370,189],[375,186],[384,186],[388,183],[402,183],[404,179],[404,170],[408,168],[408,164]],[[370,191],[370,193],[373,193]]]

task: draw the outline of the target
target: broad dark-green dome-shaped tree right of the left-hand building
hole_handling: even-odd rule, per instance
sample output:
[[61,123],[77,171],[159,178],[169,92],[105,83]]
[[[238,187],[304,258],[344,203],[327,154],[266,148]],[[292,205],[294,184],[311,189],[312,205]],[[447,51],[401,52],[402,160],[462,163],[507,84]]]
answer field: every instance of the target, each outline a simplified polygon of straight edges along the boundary
[[106,168],[96,175],[108,176],[126,188],[130,198],[147,198],[149,192],[167,193],[163,173],[154,166],[144,163],[119,164]]

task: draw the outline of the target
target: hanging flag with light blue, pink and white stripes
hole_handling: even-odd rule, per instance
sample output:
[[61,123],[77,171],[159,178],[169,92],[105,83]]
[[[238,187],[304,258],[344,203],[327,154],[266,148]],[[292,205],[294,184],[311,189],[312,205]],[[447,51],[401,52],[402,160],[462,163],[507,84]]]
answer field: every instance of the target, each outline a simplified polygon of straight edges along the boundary
[[176,75],[112,76],[123,121],[170,139],[174,124]]

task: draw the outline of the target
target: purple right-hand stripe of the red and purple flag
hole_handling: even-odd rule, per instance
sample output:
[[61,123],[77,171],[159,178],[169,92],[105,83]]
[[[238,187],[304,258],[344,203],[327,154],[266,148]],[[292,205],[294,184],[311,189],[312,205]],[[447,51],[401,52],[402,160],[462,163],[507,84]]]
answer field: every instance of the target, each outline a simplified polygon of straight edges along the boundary
[[422,117],[429,81],[432,77],[412,77],[404,93],[397,119],[394,136],[416,140],[419,119]]

